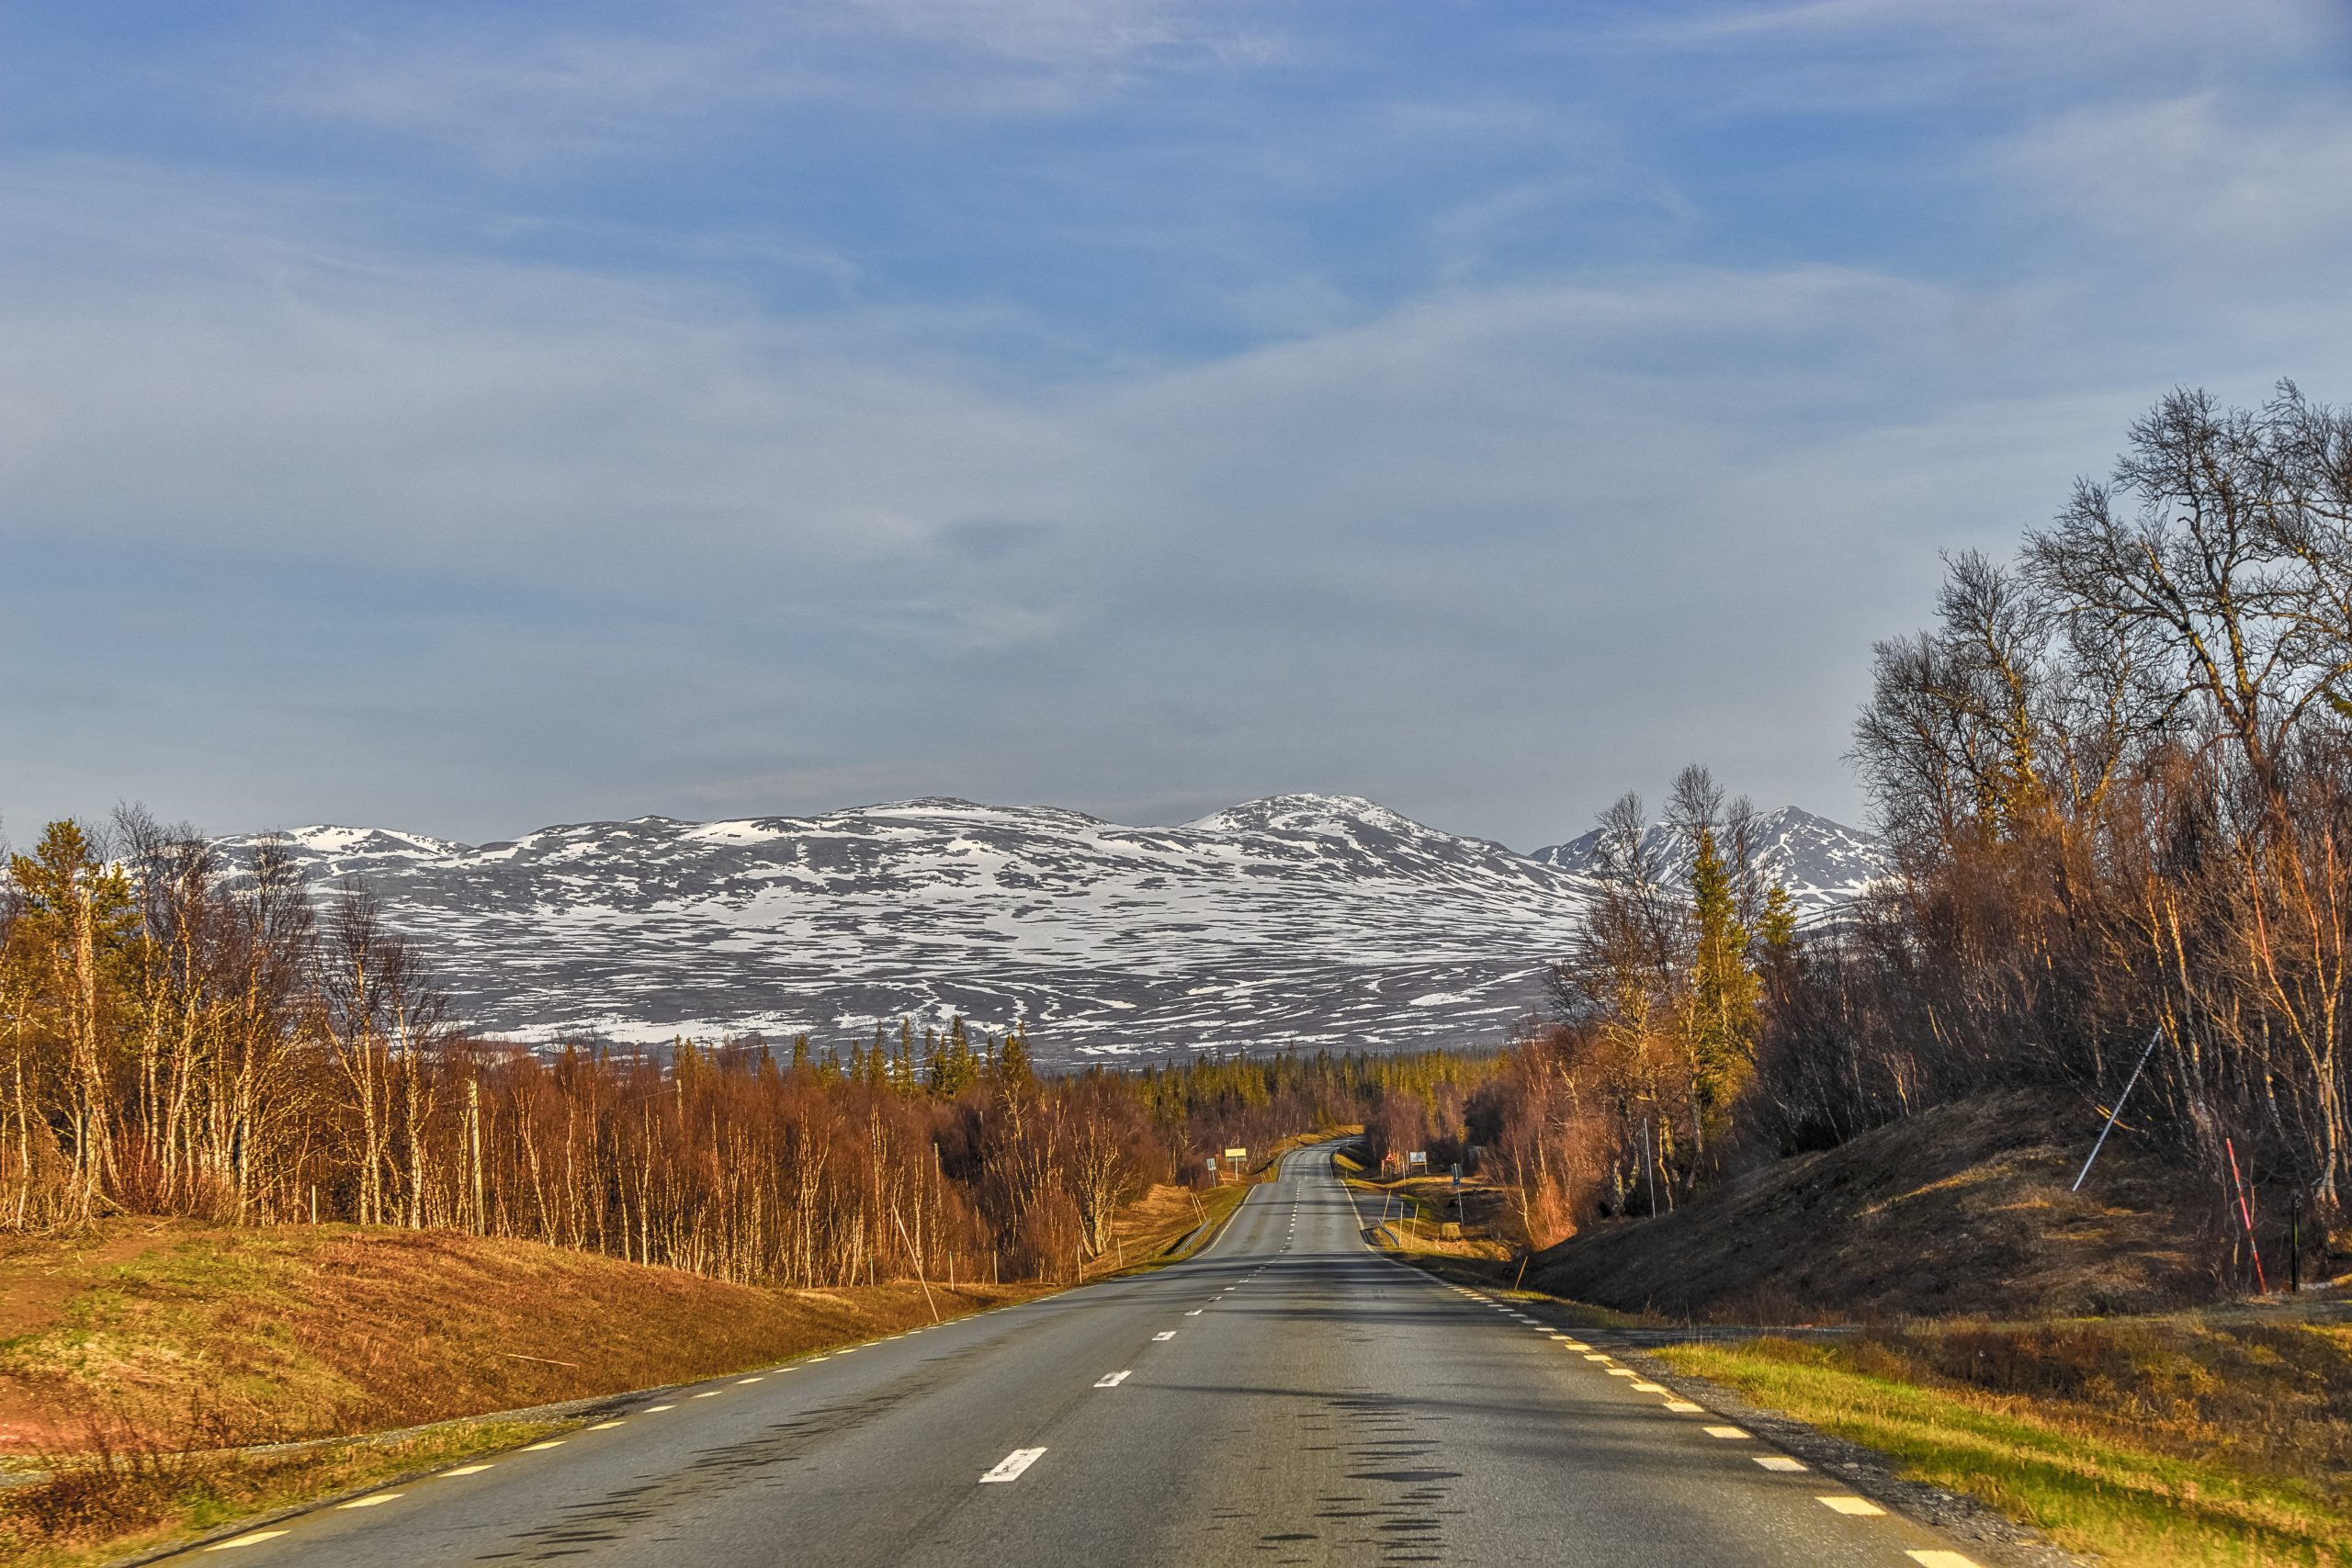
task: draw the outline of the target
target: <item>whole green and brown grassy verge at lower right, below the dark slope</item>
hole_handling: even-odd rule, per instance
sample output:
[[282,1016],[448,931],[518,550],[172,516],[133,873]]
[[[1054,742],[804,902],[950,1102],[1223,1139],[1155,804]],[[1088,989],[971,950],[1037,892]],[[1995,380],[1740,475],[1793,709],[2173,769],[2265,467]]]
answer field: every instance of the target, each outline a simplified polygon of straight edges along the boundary
[[2352,1338],[2197,1316],[1661,1352],[2133,1568],[2352,1561]]

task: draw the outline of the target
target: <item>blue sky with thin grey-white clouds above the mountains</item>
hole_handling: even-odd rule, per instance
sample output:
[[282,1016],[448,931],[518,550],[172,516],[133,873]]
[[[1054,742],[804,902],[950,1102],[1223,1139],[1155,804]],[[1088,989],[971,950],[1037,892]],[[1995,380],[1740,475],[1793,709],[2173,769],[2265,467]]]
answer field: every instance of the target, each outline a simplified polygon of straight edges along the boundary
[[2347,242],[2300,0],[12,5],[0,827],[1856,818]]

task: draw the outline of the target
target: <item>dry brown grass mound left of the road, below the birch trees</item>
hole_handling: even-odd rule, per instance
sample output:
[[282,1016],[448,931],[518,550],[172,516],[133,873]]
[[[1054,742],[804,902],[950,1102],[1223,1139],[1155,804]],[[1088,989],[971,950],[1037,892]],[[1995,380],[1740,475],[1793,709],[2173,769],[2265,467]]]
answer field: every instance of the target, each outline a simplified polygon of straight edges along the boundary
[[[139,1439],[181,1436],[202,1403],[219,1441],[275,1443],[684,1382],[931,1316],[913,1281],[767,1291],[452,1232],[143,1234],[0,1342],[0,1458],[75,1441],[101,1394]],[[931,1286],[948,1316],[1030,1293]]]

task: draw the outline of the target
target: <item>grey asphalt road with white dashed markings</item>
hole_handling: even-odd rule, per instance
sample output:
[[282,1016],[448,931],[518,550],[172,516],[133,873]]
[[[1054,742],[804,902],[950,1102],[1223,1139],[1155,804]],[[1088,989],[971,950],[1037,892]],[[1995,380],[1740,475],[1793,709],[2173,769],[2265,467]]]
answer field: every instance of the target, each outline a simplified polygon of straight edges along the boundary
[[1310,1150],[1190,1262],[647,1399],[205,1554],[1966,1568],[1790,1465],[1508,1302],[1369,1251]]

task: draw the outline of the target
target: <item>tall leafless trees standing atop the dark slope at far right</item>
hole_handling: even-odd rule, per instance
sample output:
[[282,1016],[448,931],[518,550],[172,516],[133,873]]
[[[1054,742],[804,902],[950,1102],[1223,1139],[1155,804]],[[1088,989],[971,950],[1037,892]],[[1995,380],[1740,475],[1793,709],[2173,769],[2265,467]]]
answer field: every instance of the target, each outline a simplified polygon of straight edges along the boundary
[[[2340,1218],[2352,1178],[2352,416],[2176,393],[2013,562],[1877,649],[1898,875],[1780,976],[1759,1119],[1983,1084],[2112,1105]],[[2150,1041],[2154,1048],[2150,1051]]]

